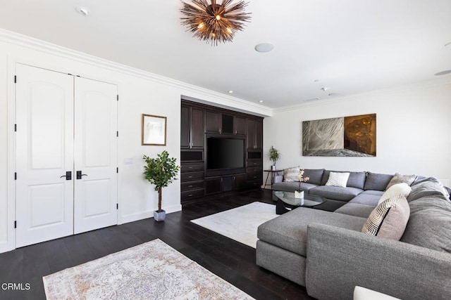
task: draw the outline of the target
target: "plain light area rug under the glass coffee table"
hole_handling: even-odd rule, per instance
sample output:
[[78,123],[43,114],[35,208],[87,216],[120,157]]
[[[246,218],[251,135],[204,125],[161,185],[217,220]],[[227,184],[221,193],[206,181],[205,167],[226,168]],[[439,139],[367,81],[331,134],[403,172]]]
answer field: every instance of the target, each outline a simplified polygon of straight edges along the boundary
[[274,219],[276,216],[278,216],[276,205],[252,202],[242,207],[221,211],[191,221],[215,233],[256,248],[257,228],[260,224]]

